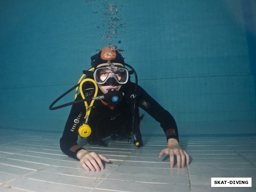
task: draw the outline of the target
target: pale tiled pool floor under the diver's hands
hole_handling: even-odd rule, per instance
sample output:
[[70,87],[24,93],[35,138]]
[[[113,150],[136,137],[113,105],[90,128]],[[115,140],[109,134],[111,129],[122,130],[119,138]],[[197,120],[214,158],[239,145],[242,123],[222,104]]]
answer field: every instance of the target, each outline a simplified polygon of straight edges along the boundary
[[[61,133],[0,129],[0,191],[61,192],[255,192],[256,137],[180,137],[190,165],[170,168],[169,157],[158,158],[164,137],[143,137],[143,148],[127,140],[105,140],[108,147],[80,145],[106,156],[111,163],[87,172],[62,153]],[[211,187],[212,177],[251,177],[252,187]]]

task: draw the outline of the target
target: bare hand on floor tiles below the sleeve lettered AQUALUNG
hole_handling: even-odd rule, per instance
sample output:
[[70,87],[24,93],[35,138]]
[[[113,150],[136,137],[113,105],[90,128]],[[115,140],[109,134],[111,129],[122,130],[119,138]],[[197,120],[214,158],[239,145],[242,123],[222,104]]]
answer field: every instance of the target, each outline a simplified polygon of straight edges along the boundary
[[77,158],[80,159],[80,164],[87,171],[100,171],[104,169],[102,161],[109,162],[105,156],[97,154],[95,152],[89,152],[85,149],[78,151]]

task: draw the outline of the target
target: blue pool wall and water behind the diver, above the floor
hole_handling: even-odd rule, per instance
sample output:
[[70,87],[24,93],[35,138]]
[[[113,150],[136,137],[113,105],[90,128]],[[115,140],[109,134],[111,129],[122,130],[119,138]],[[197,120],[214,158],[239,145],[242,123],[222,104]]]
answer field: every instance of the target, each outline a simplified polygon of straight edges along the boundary
[[[49,105],[90,68],[92,55],[114,44],[181,135],[255,134],[255,7],[247,0],[2,0],[0,127],[61,132],[70,107]],[[61,102],[72,100],[70,93]],[[163,134],[147,114],[141,132]]]

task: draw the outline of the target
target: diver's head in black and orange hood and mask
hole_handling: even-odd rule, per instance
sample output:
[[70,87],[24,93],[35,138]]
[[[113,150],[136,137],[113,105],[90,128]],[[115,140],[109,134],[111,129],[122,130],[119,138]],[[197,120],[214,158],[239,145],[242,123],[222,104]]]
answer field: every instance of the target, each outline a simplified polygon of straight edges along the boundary
[[124,68],[124,58],[115,46],[104,47],[92,62],[93,77],[103,93],[108,90],[119,91],[122,84],[127,83],[129,73]]

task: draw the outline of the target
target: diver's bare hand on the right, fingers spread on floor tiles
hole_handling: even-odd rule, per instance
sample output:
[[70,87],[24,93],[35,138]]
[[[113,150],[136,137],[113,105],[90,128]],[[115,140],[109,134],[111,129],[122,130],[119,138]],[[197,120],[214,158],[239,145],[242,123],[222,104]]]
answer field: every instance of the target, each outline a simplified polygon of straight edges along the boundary
[[159,153],[159,158],[162,157],[163,155],[170,155],[170,163],[171,163],[171,168],[174,166],[174,155],[177,157],[177,167],[180,169],[181,167],[185,167],[185,159],[187,160],[187,165],[189,165],[189,155],[186,151],[184,151],[180,145],[178,140],[176,139],[168,139],[168,145],[167,148],[163,149]]

